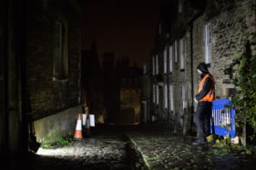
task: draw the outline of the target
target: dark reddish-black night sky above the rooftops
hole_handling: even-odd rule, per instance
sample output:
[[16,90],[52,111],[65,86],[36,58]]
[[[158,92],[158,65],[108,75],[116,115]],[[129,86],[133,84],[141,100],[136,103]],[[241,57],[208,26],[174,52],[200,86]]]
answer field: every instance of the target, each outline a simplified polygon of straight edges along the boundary
[[154,46],[159,6],[170,1],[86,0],[82,49],[88,49],[95,38],[99,59],[112,51],[141,66]]

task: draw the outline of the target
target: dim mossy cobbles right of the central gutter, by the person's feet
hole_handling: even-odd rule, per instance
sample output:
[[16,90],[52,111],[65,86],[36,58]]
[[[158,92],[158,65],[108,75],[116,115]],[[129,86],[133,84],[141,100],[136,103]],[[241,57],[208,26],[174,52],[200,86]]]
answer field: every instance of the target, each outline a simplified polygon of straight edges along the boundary
[[194,136],[171,135],[163,129],[127,132],[148,169],[255,169],[256,155],[210,145],[192,145]]

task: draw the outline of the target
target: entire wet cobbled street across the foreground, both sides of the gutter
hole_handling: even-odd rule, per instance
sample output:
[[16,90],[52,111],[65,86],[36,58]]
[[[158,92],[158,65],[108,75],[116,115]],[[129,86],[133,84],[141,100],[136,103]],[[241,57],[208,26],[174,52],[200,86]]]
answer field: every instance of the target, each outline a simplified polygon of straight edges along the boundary
[[[253,169],[255,155],[191,145],[194,136],[154,126],[101,127],[91,137],[56,149],[39,148],[26,169]],[[24,162],[25,163],[25,162]],[[12,169],[14,165],[10,165]],[[16,169],[16,167],[13,167]]]

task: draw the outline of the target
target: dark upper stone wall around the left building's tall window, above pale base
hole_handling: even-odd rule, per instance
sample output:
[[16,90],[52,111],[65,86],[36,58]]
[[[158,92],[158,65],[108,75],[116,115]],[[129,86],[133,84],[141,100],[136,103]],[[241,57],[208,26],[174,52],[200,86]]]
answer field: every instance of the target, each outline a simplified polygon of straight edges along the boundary
[[[27,75],[36,119],[80,104],[81,9],[69,0],[29,0]],[[67,78],[54,80],[55,22],[67,22]]]

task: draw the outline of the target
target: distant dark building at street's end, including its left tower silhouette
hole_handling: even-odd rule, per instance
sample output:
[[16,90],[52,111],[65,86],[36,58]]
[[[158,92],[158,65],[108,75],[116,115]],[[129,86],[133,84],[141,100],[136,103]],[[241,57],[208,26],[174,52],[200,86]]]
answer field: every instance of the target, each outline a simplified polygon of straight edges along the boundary
[[141,69],[129,66],[128,57],[115,64],[113,53],[103,55],[102,69],[108,123],[138,124]]

